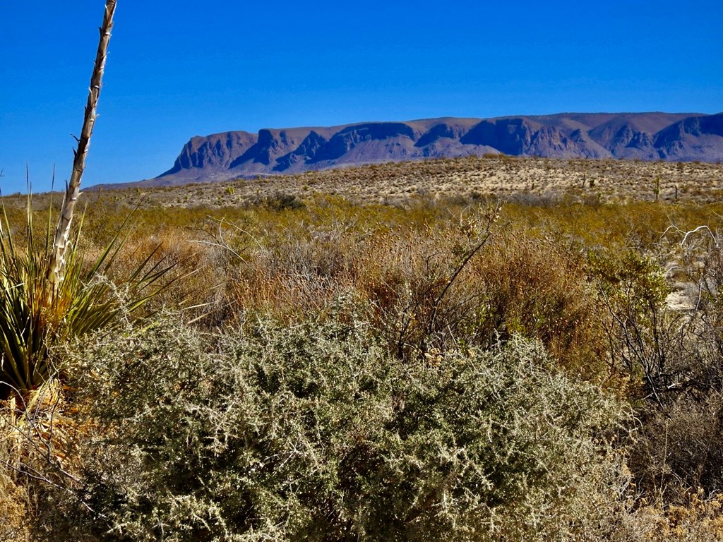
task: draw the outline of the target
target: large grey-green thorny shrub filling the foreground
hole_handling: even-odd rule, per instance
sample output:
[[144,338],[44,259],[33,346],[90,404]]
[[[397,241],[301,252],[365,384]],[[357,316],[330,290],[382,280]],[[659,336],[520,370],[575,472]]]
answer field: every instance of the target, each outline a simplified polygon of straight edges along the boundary
[[74,504],[52,496],[48,536],[513,541],[609,523],[620,405],[539,343],[409,364],[348,313],[221,336],[169,317],[79,345],[85,469]]

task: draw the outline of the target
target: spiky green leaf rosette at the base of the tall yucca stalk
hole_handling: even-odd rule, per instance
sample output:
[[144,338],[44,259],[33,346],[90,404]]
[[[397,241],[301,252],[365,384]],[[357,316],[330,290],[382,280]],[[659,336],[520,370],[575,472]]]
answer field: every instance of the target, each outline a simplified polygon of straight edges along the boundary
[[35,241],[30,197],[26,227],[27,241],[18,246],[7,215],[0,223],[0,382],[5,395],[25,395],[55,374],[49,346],[106,327],[121,311],[138,309],[165,287],[159,280],[171,268],[162,259],[151,264],[152,253],[116,286],[106,275],[124,240],[116,236],[95,262],[86,264],[78,248],[81,221],[65,251],[63,278],[52,283],[50,228],[44,242]]

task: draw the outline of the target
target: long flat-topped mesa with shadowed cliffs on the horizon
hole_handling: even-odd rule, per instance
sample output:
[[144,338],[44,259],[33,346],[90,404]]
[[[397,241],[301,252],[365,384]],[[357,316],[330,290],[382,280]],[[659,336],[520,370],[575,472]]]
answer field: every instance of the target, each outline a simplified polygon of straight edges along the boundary
[[718,162],[723,113],[560,113],[224,132],[193,137],[174,167],[155,180],[182,184],[487,152]]

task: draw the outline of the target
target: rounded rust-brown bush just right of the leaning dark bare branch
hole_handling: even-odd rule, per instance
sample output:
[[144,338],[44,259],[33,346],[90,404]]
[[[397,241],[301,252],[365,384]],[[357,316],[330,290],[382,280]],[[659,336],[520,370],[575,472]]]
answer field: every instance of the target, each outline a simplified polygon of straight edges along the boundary
[[610,377],[601,314],[579,254],[544,239],[508,234],[472,267],[481,300],[469,322],[470,338],[485,344],[520,334],[542,341],[576,377],[596,382]]

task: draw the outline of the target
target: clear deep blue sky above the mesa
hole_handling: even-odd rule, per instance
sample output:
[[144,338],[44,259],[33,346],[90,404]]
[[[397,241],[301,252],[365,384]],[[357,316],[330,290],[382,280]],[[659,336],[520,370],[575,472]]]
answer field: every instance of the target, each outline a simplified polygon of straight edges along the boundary
[[[103,0],[0,0],[0,186],[68,177]],[[194,135],[438,116],[723,111],[723,1],[118,0],[83,186]]]

